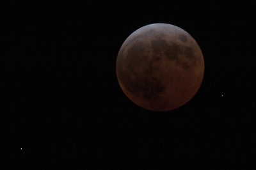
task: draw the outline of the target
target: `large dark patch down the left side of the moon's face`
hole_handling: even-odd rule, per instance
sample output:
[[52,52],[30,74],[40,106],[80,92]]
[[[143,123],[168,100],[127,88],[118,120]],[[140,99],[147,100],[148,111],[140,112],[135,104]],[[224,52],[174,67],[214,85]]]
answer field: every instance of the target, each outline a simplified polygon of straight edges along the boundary
[[[143,92],[142,97],[145,100],[157,100],[160,93],[164,92],[164,86],[157,77],[152,77],[152,73],[156,72],[157,68],[154,68],[153,62],[147,61],[148,56],[143,56],[143,52],[147,49],[147,45],[142,42],[134,42],[132,47],[127,50],[127,58],[122,59],[124,62],[118,63],[118,72],[121,71],[120,81],[131,82],[130,84],[124,84],[127,89],[133,95]],[[124,50],[120,52],[120,57],[124,57]],[[136,73],[135,68],[139,68],[142,64],[147,64],[147,69],[141,73]],[[122,67],[125,70],[122,70]],[[132,74],[131,74],[132,73]],[[132,80],[131,75],[134,75],[135,79]]]

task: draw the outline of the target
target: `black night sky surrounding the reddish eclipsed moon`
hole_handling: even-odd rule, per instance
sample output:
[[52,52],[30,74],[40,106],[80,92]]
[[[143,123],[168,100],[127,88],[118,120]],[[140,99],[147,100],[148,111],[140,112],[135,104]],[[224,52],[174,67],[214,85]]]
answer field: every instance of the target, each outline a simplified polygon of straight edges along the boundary
[[[254,4],[8,1],[4,8],[0,169],[250,169]],[[133,104],[115,72],[125,39],[159,22],[186,30],[205,60],[198,93],[168,112]]]

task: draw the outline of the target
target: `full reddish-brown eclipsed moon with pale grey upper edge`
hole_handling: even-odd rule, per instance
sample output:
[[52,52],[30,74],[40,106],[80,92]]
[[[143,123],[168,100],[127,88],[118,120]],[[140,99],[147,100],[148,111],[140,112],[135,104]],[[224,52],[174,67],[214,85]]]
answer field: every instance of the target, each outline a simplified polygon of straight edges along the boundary
[[172,24],[134,31],[116,58],[125,95],[148,111],[171,111],[193,98],[204,78],[204,56],[195,39]]

